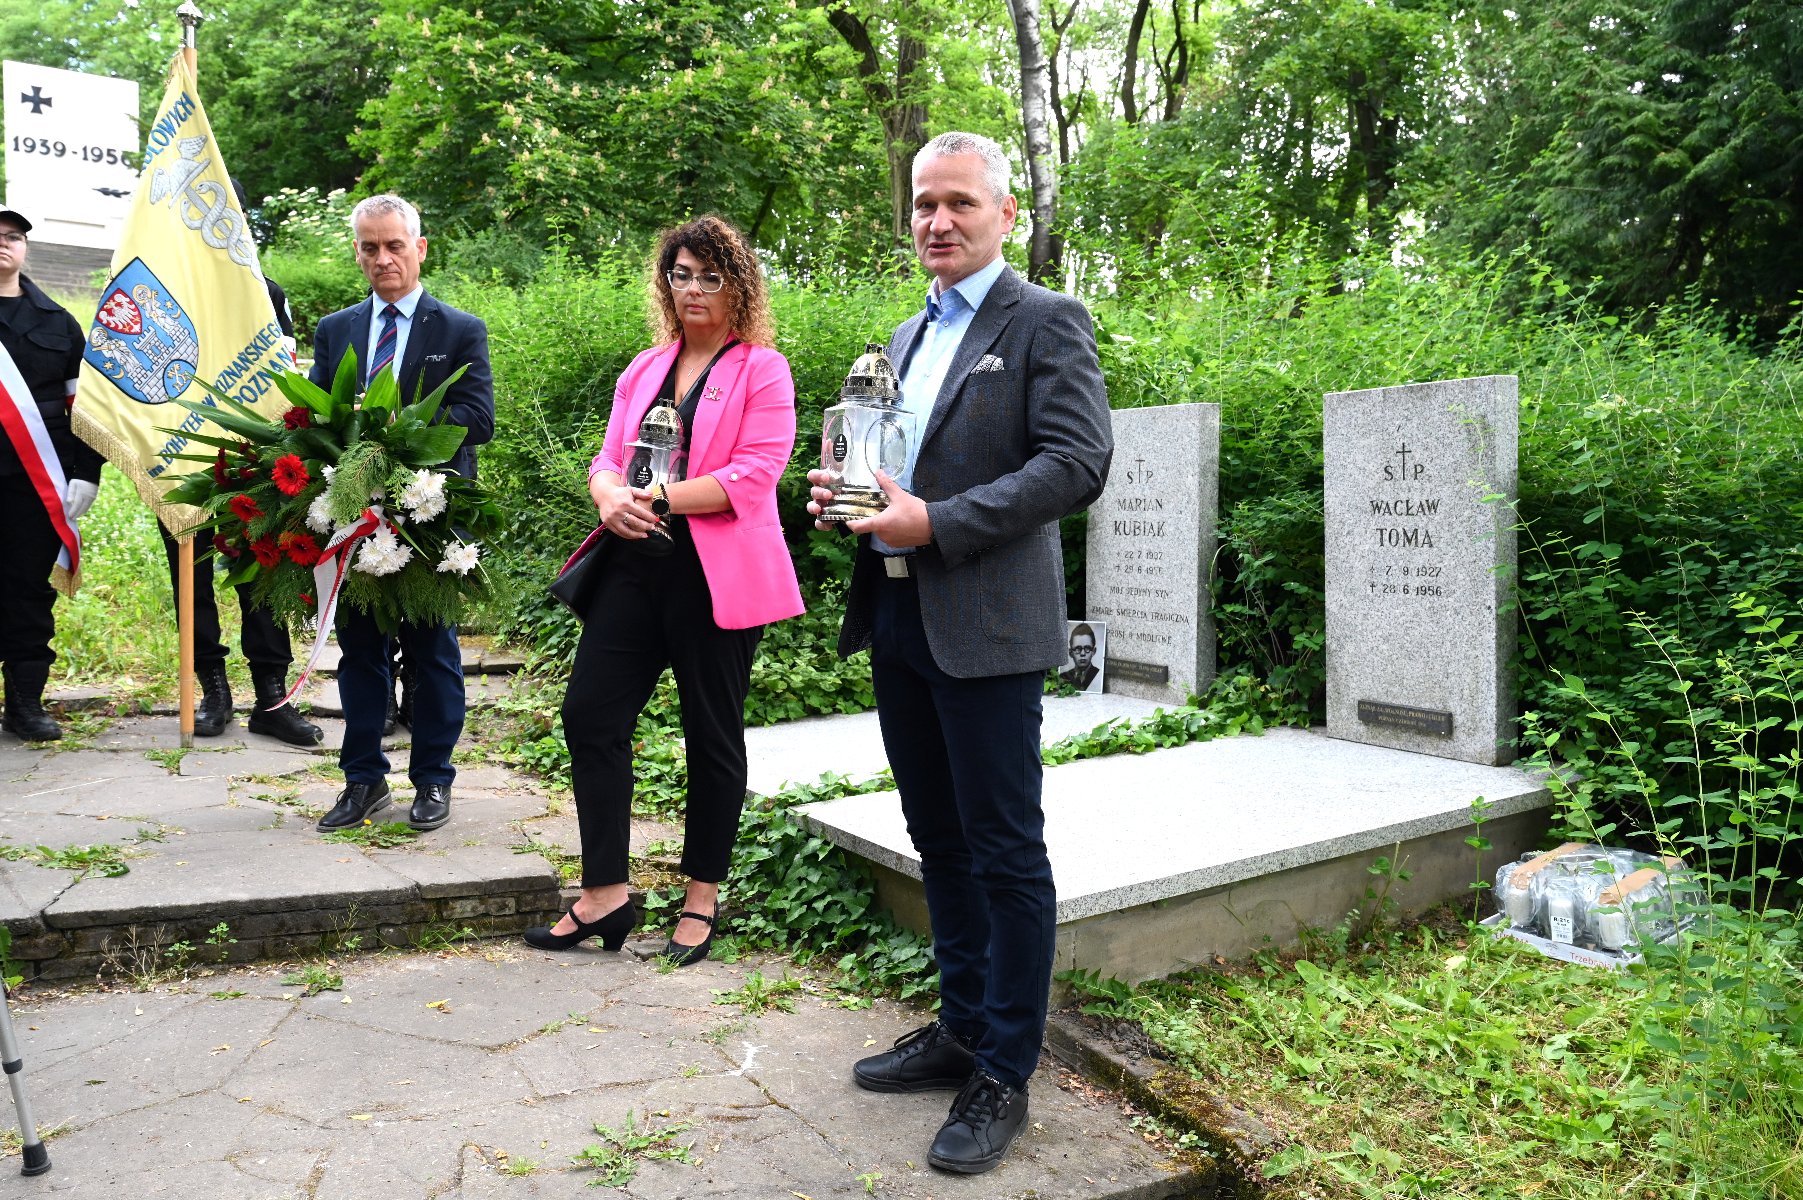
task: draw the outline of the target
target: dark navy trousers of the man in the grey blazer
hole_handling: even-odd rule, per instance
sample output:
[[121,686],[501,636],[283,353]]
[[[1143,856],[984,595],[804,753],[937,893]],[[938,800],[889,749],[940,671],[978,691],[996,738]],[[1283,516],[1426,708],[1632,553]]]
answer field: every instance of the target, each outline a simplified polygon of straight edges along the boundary
[[871,672],[927,886],[939,1020],[979,1070],[1020,1086],[1046,1034],[1058,906],[1040,809],[1046,676],[945,674],[914,580],[887,577],[876,582]]

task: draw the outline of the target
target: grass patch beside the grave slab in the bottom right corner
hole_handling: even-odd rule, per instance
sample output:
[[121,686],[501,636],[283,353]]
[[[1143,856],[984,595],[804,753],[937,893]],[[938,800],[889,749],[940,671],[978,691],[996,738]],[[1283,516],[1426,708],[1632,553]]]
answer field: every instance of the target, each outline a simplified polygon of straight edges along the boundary
[[[1179,1108],[1224,1094],[1275,1126],[1286,1144],[1258,1168],[1280,1200],[1776,1200],[1803,1195],[1794,950],[1792,926],[1615,973],[1444,921],[1370,957],[1062,978],[1159,1047]],[[1698,987],[1724,960],[1771,1004]]]

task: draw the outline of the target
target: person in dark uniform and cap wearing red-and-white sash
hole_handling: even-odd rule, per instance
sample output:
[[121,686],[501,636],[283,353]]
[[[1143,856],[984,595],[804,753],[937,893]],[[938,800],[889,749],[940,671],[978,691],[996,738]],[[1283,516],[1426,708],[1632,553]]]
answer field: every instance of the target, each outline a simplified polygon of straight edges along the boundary
[[[25,277],[29,232],[31,222],[0,209],[0,346],[11,360],[0,362],[0,386],[7,393],[0,396],[0,670],[5,677],[0,728],[27,742],[49,742],[63,735],[43,710],[43,685],[56,661],[50,569],[67,544],[63,533],[99,495],[101,456],[69,427],[87,342],[69,310]],[[14,395],[16,389],[27,395]],[[43,461],[38,452],[43,441],[54,449],[56,463]]]

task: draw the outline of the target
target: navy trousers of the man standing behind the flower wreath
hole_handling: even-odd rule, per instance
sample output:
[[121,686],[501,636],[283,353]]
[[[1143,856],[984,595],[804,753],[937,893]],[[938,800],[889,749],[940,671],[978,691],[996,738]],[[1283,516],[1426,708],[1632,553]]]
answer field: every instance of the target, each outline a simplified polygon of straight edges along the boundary
[[[337,611],[339,703],[344,705],[344,748],[339,766],[346,784],[379,784],[388,775],[382,726],[388,697],[395,694],[389,674],[389,641],[368,613]],[[407,777],[418,784],[456,778],[451,750],[463,733],[463,650],[456,625],[402,625],[395,634],[413,668],[413,750]]]

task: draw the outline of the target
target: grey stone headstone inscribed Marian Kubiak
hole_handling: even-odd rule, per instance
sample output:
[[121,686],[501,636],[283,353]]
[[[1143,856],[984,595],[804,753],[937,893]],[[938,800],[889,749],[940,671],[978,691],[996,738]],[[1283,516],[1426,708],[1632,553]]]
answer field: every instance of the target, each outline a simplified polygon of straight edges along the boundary
[[1181,705],[1215,677],[1221,405],[1114,411],[1114,465],[1089,508],[1085,620],[1107,622],[1103,688]]

